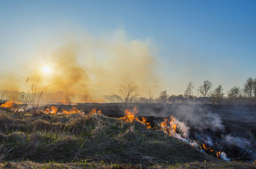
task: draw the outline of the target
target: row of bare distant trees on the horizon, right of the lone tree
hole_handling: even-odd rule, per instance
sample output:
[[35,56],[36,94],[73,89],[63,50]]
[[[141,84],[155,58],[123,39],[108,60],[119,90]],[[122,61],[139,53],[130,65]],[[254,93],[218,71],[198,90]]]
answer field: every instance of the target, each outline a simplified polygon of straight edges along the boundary
[[[196,92],[194,92],[196,91]],[[243,87],[231,87],[231,89],[223,92],[224,89],[219,84],[215,89],[212,88],[212,82],[205,80],[202,85],[195,89],[194,84],[190,82],[187,84],[184,94],[168,95],[167,91],[162,91],[156,99],[150,95],[146,97],[135,97],[131,102],[133,103],[184,103],[188,101],[197,101],[201,103],[214,103],[214,104],[256,104],[256,78],[249,77]],[[109,97],[109,102],[120,102],[117,96],[112,95]]]

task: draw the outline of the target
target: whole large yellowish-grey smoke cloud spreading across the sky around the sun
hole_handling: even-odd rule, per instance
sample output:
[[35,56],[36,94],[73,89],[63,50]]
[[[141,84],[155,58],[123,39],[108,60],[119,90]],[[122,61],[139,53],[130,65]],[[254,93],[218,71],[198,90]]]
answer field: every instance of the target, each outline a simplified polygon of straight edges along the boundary
[[[121,84],[136,85],[140,96],[157,91],[156,47],[150,39],[129,39],[123,30],[101,37],[79,32],[60,39],[38,47],[30,61],[21,63],[22,70],[13,70],[15,77],[1,75],[8,82],[0,90],[27,92],[41,77],[37,91],[45,101],[104,102]],[[45,65],[51,68],[48,74],[42,73]],[[18,84],[16,89],[12,84]]]

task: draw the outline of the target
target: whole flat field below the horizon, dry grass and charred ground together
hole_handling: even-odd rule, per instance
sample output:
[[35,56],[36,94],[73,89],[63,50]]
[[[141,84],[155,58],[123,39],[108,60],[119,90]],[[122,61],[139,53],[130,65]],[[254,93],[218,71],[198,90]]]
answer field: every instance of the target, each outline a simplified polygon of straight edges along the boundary
[[[131,120],[124,113],[122,104],[77,104],[75,106],[77,109],[71,105],[54,106],[57,108],[55,113],[45,112],[45,109],[51,108],[52,105],[25,112],[1,108],[0,166],[2,168],[256,167],[252,160],[255,151],[252,148],[255,147],[255,142],[252,142],[255,139],[255,124],[252,123],[255,118],[255,107],[248,106],[247,110],[250,111],[243,112],[247,114],[238,120],[239,115],[235,117],[236,114],[232,114],[235,111],[230,111],[231,108],[214,105],[192,107],[191,105],[131,104],[129,108],[136,107],[139,111],[138,113],[129,111],[130,115],[138,117],[134,116]],[[194,110],[187,111],[188,114],[180,113],[181,110],[192,108]],[[206,115],[206,123],[196,124],[197,120],[201,120],[197,119],[198,117],[205,116],[198,111],[201,108],[201,113],[208,114],[207,112],[211,110],[210,116]],[[194,111],[197,111],[198,117],[194,116]],[[211,116],[216,114],[215,111],[218,111],[218,115]],[[170,115],[173,115],[177,121],[178,128],[175,132],[177,134],[161,127],[164,118]],[[251,115],[250,118],[247,118],[248,115]],[[193,116],[196,120],[192,120]],[[146,122],[141,117],[146,117]],[[209,118],[213,118],[214,123],[209,123]],[[238,121],[240,123],[237,123]],[[181,128],[179,129],[179,126],[182,126],[179,125],[180,122],[190,129],[187,135]],[[213,124],[216,126],[210,130]],[[207,140],[197,142],[197,146],[204,142],[207,146],[204,150],[189,143],[191,139],[199,138],[197,134],[201,132],[204,132],[204,136],[209,133],[214,141],[226,138],[217,137],[218,133],[212,132],[218,129],[218,125],[221,125],[218,133],[246,142],[244,148],[245,151],[248,149],[250,154],[243,155],[243,147],[238,146],[234,148],[235,150],[226,148],[225,146],[230,143],[228,141],[225,144],[212,144],[212,152],[206,150],[209,150],[207,147],[211,145],[206,142]],[[168,127],[173,130],[170,125]],[[182,139],[179,139],[178,135],[182,136]],[[221,149],[226,151],[232,163],[216,156],[217,149],[220,149],[217,146],[223,146]],[[231,156],[234,152],[240,153],[240,158],[237,155]]]

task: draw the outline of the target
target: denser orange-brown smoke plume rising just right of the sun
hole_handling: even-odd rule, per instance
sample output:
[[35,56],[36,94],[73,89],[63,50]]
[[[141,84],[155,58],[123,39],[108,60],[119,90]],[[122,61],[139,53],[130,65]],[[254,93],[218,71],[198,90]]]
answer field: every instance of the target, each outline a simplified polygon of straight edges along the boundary
[[[50,100],[61,101],[65,98],[78,100],[78,94],[88,95],[86,82],[89,81],[86,69],[78,63],[76,50],[71,46],[62,46],[53,52],[50,59],[54,72],[42,86],[50,94]],[[48,65],[51,65],[48,63]],[[42,79],[43,80],[43,79]]]

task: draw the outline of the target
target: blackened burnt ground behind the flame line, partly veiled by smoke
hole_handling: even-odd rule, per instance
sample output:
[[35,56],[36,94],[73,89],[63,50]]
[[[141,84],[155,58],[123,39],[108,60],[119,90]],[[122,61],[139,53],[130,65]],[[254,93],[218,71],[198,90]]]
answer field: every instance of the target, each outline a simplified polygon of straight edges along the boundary
[[[50,105],[48,105],[50,107]],[[71,105],[57,105],[59,110]],[[88,113],[92,108],[110,117],[124,115],[122,104],[77,104],[78,110]],[[256,106],[245,104],[129,104],[137,108],[138,117],[146,117],[156,125],[173,115],[190,127],[189,139],[206,143],[216,151],[225,151],[232,160],[256,159]]]

